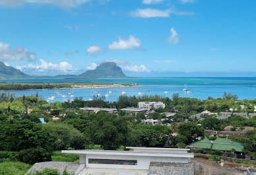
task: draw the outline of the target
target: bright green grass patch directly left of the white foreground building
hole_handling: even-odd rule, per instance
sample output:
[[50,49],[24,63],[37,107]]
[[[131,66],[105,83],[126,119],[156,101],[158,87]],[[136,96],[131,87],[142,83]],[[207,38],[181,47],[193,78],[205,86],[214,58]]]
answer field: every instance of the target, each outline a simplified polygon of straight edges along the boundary
[[61,151],[54,151],[51,155],[51,161],[57,162],[79,162],[79,155],[61,153]]

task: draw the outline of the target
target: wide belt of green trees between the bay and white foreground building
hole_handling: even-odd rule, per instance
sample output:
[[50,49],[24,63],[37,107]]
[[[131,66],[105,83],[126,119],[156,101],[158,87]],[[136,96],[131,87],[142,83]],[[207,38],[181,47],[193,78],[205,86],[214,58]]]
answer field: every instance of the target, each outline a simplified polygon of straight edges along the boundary
[[[138,101],[163,101],[165,109],[157,109],[149,114],[128,114],[118,111],[84,112],[80,107],[137,107]],[[241,109],[240,105],[245,105]],[[203,116],[201,120],[191,118],[192,114],[209,110],[227,111],[230,108],[238,112],[253,112],[256,100],[237,100],[236,95],[224,94],[222,98],[207,100],[181,98],[174,94],[168,97],[121,96],[118,101],[108,102],[95,97],[92,101],[82,98],[71,102],[48,103],[36,96],[15,97],[0,94],[0,160],[1,162],[20,161],[28,164],[53,160],[77,160],[65,157],[61,149],[119,149],[125,146],[141,147],[185,147],[187,144],[204,137],[204,129],[223,130],[225,126],[256,127],[256,118],[231,116],[218,120],[215,116]],[[30,112],[28,112],[30,111]],[[31,112],[32,111],[32,112]],[[145,118],[166,118],[163,112],[176,112],[172,120],[166,119],[163,125],[142,124]],[[60,120],[53,121],[56,116]],[[47,124],[42,124],[44,118]],[[199,125],[200,124],[200,125]],[[176,132],[178,135],[173,136]],[[256,151],[256,131],[247,132],[247,137],[232,138],[245,143],[247,153]],[[1,167],[1,166],[0,166]],[[1,172],[1,169],[0,169]],[[0,173],[1,174],[1,173]]]

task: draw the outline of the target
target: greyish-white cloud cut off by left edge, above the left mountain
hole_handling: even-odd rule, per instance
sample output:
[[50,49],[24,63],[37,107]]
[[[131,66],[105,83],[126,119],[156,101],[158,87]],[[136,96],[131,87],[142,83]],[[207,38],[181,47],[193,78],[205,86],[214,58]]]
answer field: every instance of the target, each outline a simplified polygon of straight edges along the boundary
[[0,61],[20,61],[22,59],[34,61],[36,53],[30,52],[24,47],[12,49],[9,44],[0,42]]

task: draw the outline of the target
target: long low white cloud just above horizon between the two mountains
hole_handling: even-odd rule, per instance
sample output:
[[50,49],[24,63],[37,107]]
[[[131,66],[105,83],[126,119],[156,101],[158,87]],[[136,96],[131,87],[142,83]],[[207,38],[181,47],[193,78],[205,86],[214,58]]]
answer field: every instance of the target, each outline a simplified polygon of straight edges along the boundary
[[26,66],[16,66],[19,70],[24,69],[36,69],[38,72],[46,72],[48,70],[60,70],[63,72],[73,72],[73,65],[63,61],[59,64],[53,64],[51,62],[44,61],[40,59],[40,64],[27,64]]

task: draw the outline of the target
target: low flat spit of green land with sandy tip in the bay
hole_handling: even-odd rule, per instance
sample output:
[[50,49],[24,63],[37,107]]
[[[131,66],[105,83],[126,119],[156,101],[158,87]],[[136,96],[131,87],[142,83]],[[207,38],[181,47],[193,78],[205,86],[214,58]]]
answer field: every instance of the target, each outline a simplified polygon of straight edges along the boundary
[[115,87],[127,87],[127,86],[139,86],[139,85],[138,84],[101,83],[101,82],[54,82],[54,83],[0,82],[0,90],[115,88]]

